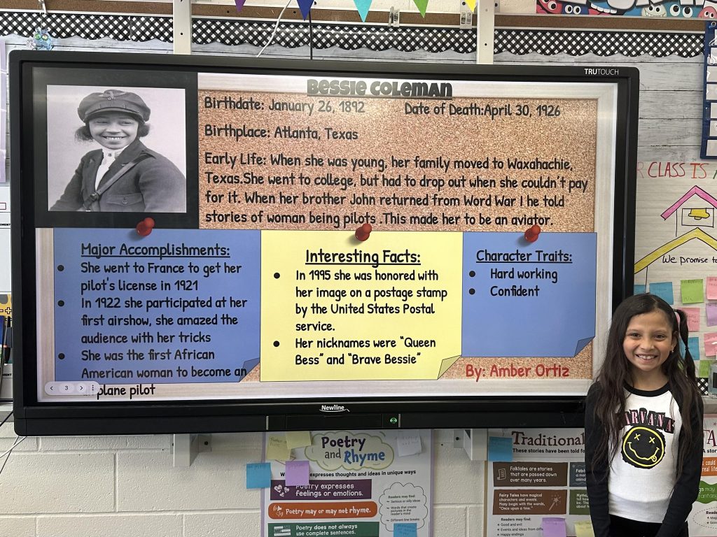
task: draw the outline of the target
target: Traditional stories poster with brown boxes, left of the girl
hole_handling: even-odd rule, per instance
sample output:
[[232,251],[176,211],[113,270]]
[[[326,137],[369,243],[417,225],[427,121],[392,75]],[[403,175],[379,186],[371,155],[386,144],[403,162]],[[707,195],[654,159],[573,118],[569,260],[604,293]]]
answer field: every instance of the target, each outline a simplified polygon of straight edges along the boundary
[[563,518],[567,535],[590,520],[585,484],[585,431],[499,429],[488,435],[513,440],[513,460],[494,461],[488,471],[486,535],[538,535],[543,518]]

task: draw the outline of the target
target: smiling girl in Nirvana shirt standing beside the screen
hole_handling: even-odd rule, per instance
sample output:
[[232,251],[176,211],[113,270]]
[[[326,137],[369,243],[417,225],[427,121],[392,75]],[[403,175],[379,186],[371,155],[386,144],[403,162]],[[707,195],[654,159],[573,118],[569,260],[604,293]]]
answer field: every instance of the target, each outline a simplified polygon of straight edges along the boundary
[[655,295],[631,296],[612,317],[585,409],[596,537],[688,536],[702,469],[703,404],[687,344],[687,317]]

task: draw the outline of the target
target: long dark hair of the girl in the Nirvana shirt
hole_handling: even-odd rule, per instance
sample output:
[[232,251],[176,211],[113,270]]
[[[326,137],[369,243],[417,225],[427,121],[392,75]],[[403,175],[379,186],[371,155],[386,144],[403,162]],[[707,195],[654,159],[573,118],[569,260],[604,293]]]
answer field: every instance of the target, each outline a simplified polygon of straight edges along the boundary
[[[625,299],[615,310],[612,316],[607,337],[607,351],[605,361],[597,374],[596,382],[600,384],[599,395],[595,402],[595,417],[602,422],[603,434],[599,435],[599,443],[595,449],[594,463],[597,461],[610,461],[617,454],[622,428],[625,427],[625,385],[632,384],[630,377],[630,362],[625,356],[622,344],[625,341],[627,325],[635,315],[662,311],[672,327],[673,337],[679,334],[685,344],[685,356],[680,352],[680,345],[675,349],[662,365],[663,372],[668,377],[670,390],[678,392],[683,397],[680,406],[682,416],[682,432],[680,443],[691,445],[695,435],[701,431],[694,431],[692,427],[693,412],[699,408],[700,390],[695,378],[695,364],[688,347],[687,316],[653,294],[638,294]],[[678,322],[678,316],[680,321]],[[688,450],[678,450],[680,454],[677,461],[677,475],[682,473],[685,454]]]

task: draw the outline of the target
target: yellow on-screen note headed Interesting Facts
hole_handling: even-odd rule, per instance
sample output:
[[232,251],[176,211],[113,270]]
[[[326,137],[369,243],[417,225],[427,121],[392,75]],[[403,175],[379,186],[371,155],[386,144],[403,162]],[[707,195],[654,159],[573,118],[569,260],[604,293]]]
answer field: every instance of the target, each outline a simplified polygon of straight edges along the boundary
[[460,356],[461,256],[461,233],[262,231],[262,382],[437,379]]

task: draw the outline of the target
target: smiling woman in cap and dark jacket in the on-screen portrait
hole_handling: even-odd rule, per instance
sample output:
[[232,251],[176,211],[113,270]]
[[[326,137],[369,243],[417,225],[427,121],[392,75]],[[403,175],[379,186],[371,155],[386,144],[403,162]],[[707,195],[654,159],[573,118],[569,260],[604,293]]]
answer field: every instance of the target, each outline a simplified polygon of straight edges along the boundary
[[151,110],[139,95],[108,89],[87,95],[77,115],[78,140],[100,149],[80,160],[65,192],[50,211],[184,213],[186,179],[163,155],[140,141]]

